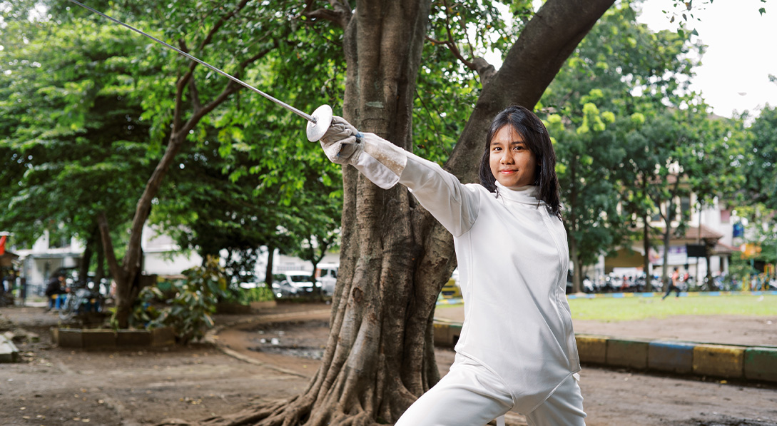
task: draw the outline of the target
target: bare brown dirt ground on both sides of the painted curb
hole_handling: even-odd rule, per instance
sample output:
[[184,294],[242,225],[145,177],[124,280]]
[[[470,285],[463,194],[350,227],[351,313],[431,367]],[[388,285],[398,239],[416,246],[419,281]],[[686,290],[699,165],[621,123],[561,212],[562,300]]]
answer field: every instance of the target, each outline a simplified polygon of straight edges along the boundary
[[[293,396],[318,368],[329,306],[279,306],[258,315],[217,316],[214,344],[133,351],[71,351],[51,344],[58,318],[41,308],[0,309],[0,328],[37,333],[19,343],[23,361],[0,365],[0,424],[145,425],[201,420],[263,400]],[[771,322],[771,323],[769,323]],[[676,317],[633,323],[575,323],[578,332],[771,344],[777,318]],[[709,337],[709,338],[708,338]],[[728,340],[728,341],[723,341]],[[437,349],[441,372],[453,351]],[[777,424],[777,386],[584,367],[587,424]],[[508,414],[508,424],[525,424]]]

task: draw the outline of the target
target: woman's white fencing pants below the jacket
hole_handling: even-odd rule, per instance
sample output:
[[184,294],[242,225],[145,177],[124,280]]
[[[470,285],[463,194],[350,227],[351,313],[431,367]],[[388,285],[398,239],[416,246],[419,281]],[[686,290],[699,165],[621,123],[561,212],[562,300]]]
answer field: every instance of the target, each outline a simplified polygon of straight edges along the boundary
[[[489,369],[456,355],[451,371],[424,393],[395,426],[482,426],[514,407],[507,386]],[[570,375],[531,413],[530,426],[584,425],[583,396]]]

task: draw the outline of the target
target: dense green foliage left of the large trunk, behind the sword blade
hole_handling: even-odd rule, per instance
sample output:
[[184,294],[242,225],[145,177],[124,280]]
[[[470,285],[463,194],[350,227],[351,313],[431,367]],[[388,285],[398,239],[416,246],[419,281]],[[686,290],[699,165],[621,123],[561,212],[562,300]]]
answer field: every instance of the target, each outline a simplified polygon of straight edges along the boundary
[[[8,202],[0,229],[28,244],[47,228],[87,239],[96,232],[96,214],[106,211],[113,237],[126,241],[119,231],[166,148],[176,82],[189,63],[81,8],[46,0],[37,5],[49,14],[30,20],[33,2],[9,6],[9,25],[0,34],[7,54],[0,72],[9,75],[0,84],[0,199]],[[342,33],[297,19],[298,2],[242,9],[182,0],[90,5],[302,110],[341,103]],[[229,84],[204,67],[195,69],[192,81],[196,91],[183,93],[181,120]],[[256,260],[260,246],[286,252],[334,232],[340,166],[312,149],[304,128],[304,121],[261,96],[237,93],[215,105],[167,174],[152,224],[184,250],[235,254],[228,260],[241,259],[228,265],[235,274],[253,271],[249,260]]]

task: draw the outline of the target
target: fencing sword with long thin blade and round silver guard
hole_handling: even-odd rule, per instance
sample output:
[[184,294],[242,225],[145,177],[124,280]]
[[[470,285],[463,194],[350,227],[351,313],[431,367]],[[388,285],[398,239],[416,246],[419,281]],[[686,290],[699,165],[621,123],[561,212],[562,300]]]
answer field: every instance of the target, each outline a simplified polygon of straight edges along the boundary
[[173,51],[176,51],[177,53],[182,54],[186,58],[189,58],[192,61],[197,62],[198,64],[204,65],[205,67],[210,68],[214,72],[218,72],[218,74],[224,75],[226,78],[232,80],[233,82],[236,82],[241,86],[251,89],[256,93],[259,93],[260,95],[264,96],[268,100],[271,100],[274,103],[276,103],[278,106],[282,106],[285,109],[290,110],[292,113],[295,113],[298,116],[304,118],[305,120],[308,120],[308,127],[306,129],[306,133],[308,135],[308,141],[312,141],[312,142],[318,141],[326,133],[326,130],[329,129],[329,126],[332,124],[332,107],[329,105],[324,104],[322,106],[319,106],[318,108],[315,109],[315,111],[313,111],[312,114],[303,113],[301,110],[294,108],[294,106],[291,106],[288,103],[285,103],[281,100],[277,100],[273,96],[270,96],[267,93],[262,92],[260,89],[256,89],[256,87],[251,86],[246,82],[243,82],[241,79],[238,79],[233,75],[227,74],[226,72],[221,71],[220,69],[214,67],[213,65],[208,64],[205,61],[200,61],[200,59],[194,58],[192,55],[187,54],[185,51],[182,51],[177,47],[173,47],[170,44],[167,44],[164,41],[159,40],[158,38],[152,36],[151,34],[144,33],[143,31],[138,30],[134,26],[127,25],[126,23],[121,22],[119,19],[113,18],[111,16],[107,16],[105,13],[99,12],[99,10],[96,10],[96,9],[92,9],[89,6],[81,2],[78,2],[76,0],[68,0],[68,1],[71,3],[75,3],[76,5],[79,5],[86,10],[89,10],[89,12],[94,12],[99,16],[103,16],[104,18],[110,19],[114,23],[117,23],[121,26],[125,26],[130,30],[133,30],[135,33],[148,37],[151,40],[154,40],[155,42],[162,44],[162,46],[172,49]]

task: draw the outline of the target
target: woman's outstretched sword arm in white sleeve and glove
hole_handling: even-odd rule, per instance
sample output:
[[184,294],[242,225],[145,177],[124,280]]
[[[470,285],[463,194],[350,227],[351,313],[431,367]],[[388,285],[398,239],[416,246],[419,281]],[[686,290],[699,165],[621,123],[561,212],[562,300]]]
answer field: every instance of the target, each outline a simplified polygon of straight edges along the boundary
[[454,236],[462,235],[474,224],[483,191],[476,185],[463,185],[437,163],[376,134],[357,131],[341,117],[333,117],[320,143],[332,162],[356,167],[378,187],[389,189],[396,183],[408,187]]

